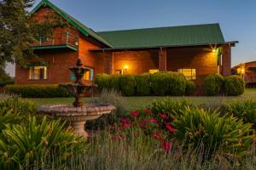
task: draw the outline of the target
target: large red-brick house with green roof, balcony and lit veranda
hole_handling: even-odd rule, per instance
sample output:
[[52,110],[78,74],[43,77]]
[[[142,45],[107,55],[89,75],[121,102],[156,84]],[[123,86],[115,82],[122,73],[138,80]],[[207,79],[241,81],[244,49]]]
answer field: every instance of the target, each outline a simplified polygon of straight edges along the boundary
[[86,83],[98,73],[179,71],[196,83],[201,94],[205,77],[231,74],[231,47],[236,42],[225,42],[218,24],[95,32],[48,0],[32,10],[32,18],[38,22],[44,22],[47,14],[61,16],[69,26],[32,44],[44,62],[16,65],[15,84],[71,82],[73,76],[67,68],[78,58],[90,68],[84,74]]

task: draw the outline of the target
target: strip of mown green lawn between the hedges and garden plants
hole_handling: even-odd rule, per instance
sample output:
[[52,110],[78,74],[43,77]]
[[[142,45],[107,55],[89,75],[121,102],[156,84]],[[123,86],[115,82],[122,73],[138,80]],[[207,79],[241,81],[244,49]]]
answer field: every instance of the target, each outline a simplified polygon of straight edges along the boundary
[[[164,99],[166,97],[158,97],[158,96],[144,96],[144,97],[124,97],[125,105],[127,106],[128,111],[132,111],[135,109],[142,109],[145,105],[149,105],[152,101],[158,99]],[[189,99],[195,105],[218,105],[224,102],[231,102],[233,100],[245,100],[245,99],[253,99],[256,101],[256,88],[247,88],[245,93],[241,96],[220,96],[220,97],[207,97],[207,96],[190,96],[190,97],[169,97],[171,99]],[[53,104],[68,104],[73,103],[73,98],[40,98],[40,99],[29,99],[36,102],[39,105],[53,105]],[[89,102],[90,98],[84,98],[84,102]]]

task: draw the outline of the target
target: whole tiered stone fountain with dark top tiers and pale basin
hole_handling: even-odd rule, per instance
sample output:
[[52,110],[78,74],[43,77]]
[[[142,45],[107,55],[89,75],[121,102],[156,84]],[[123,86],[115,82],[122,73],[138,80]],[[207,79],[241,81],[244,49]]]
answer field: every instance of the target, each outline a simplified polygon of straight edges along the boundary
[[52,118],[61,118],[61,120],[69,122],[73,127],[74,133],[87,138],[88,133],[84,131],[85,122],[94,120],[103,114],[108,114],[115,108],[113,105],[98,105],[95,103],[83,104],[82,97],[92,88],[91,85],[88,86],[82,82],[84,72],[88,71],[88,69],[83,67],[82,60],[78,59],[76,66],[69,68],[69,70],[75,75],[75,82],[73,84],[61,84],[61,87],[66,88],[68,92],[74,95],[75,101],[73,105],[41,105],[38,107],[38,112]]

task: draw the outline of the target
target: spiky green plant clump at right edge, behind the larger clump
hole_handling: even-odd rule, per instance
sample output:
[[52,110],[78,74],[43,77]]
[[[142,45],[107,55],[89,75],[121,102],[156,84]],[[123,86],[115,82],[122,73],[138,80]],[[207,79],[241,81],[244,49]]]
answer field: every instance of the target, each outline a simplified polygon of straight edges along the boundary
[[256,129],[256,102],[252,100],[236,101],[223,106],[223,111],[234,115],[244,122],[253,123]]

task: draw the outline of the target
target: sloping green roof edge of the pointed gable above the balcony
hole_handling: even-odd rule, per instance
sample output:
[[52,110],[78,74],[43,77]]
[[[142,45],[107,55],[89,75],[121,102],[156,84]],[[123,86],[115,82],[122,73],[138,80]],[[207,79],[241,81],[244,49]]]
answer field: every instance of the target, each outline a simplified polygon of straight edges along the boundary
[[109,42],[107,42],[105,39],[103,39],[101,36],[97,35],[95,31],[92,31],[89,27],[84,26],[79,20],[74,19],[69,14],[65,13],[61,8],[56,7],[53,3],[50,3],[48,0],[43,0],[38,5],[32,9],[31,14],[38,11],[39,8],[42,6],[47,5],[49,8],[52,8],[55,13],[60,14],[61,17],[63,17],[65,20],[67,20],[68,23],[70,23],[72,26],[76,27],[84,36],[93,37],[97,41],[102,42],[103,44],[107,45],[108,47],[113,47]]

